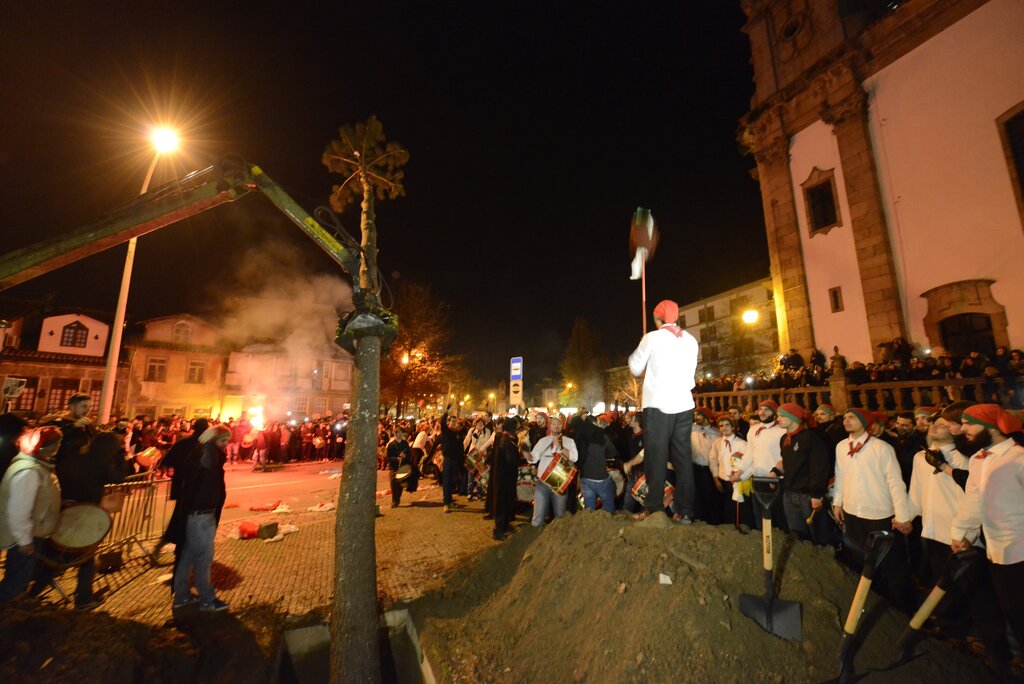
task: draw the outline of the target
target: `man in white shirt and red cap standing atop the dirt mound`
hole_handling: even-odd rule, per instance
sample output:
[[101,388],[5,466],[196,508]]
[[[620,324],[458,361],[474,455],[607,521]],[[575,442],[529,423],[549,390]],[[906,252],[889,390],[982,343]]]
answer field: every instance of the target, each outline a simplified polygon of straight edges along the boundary
[[630,372],[644,376],[644,472],[648,494],[643,519],[665,508],[665,479],[669,460],[676,471],[673,520],[693,520],[695,489],[690,453],[693,426],[693,385],[697,368],[696,339],[679,327],[679,305],[666,299],[654,307],[655,330],[647,333],[630,354]]

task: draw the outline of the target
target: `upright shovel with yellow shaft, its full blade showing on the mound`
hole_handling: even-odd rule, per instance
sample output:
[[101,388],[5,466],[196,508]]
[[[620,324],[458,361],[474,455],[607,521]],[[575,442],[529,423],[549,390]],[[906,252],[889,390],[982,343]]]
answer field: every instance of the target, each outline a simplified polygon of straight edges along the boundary
[[761,548],[764,556],[765,594],[739,595],[739,611],[752,618],[761,629],[781,639],[799,641],[801,638],[800,603],[781,601],[774,597],[775,583],[772,573],[771,510],[782,491],[782,478],[754,477],[754,496],[761,504]]

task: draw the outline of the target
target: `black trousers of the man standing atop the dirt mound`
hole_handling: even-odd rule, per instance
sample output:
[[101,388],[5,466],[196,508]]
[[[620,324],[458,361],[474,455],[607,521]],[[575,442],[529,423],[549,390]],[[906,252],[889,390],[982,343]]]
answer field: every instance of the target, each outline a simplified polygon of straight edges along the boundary
[[643,470],[647,476],[645,508],[651,513],[665,508],[665,477],[671,459],[676,469],[676,493],[672,509],[678,514],[693,517],[696,489],[693,484],[693,459],[690,451],[692,427],[692,409],[679,414],[644,409]]

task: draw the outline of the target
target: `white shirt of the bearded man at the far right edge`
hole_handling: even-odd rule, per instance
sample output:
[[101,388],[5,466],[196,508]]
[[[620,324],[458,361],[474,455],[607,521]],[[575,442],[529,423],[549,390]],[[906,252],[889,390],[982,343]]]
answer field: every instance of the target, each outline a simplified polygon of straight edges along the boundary
[[951,539],[974,542],[985,531],[988,558],[999,565],[1024,561],[1024,447],[1005,439],[988,456],[971,458],[967,491],[950,531]]

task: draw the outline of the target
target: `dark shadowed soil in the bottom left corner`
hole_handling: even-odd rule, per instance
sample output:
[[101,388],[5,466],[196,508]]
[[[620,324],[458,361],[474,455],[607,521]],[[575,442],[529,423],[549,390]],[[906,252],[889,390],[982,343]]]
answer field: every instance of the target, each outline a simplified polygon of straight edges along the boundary
[[265,609],[185,614],[172,629],[17,602],[0,610],[0,681],[266,681],[282,619]]

